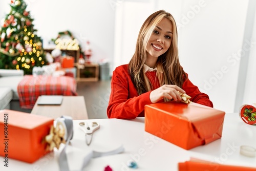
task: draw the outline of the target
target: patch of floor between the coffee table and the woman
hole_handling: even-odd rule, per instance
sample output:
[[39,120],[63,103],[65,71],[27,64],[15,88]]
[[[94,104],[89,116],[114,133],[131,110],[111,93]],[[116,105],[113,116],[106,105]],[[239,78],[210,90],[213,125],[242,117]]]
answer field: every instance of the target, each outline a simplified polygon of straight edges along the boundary
[[108,118],[106,108],[109,104],[111,80],[96,82],[77,81],[77,93],[84,96],[89,119]]

